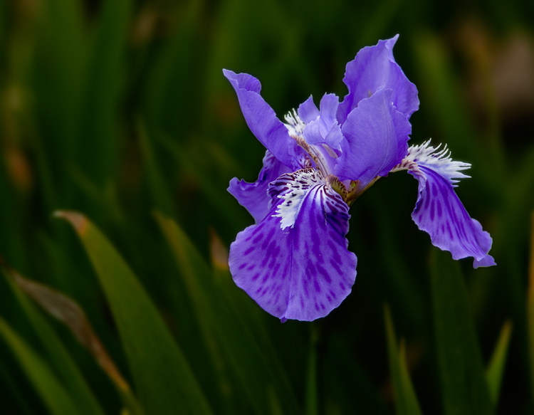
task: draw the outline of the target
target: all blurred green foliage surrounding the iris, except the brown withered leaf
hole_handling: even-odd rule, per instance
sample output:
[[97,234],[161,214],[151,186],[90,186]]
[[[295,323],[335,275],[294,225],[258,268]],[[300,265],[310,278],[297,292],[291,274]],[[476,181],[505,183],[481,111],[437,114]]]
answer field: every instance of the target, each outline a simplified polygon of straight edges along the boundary
[[[4,266],[2,413],[533,413],[532,16],[496,0],[1,1],[0,255],[78,303],[125,379]],[[396,33],[421,100],[412,142],[473,164],[457,192],[498,266],[431,246],[417,182],[393,174],[352,206],[352,294],[282,325],[225,266],[253,223],[226,187],[256,179],[264,149],[221,70],[256,76],[283,115],[345,95],[345,64]]]

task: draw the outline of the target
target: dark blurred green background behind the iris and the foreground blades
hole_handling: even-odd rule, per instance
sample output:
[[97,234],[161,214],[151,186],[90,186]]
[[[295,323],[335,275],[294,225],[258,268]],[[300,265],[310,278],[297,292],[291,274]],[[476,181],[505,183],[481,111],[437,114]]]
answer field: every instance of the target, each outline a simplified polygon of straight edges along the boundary
[[[226,187],[232,177],[255,180],[264,149],[246,127],[222,68],[256,76],[263,98],[282,117],[310,94],[315,103],[325,92],[344,96],[345,64],[363,46],[399,33],[394,55],[421,101],[411,118],[411,143],[431,137],[446,143],[454,159],[473,165],[472,178],[457,193],[493,236],[498,266],[473,270],[470,259],[453,264],[431,246],[410,217],[417,182],[392,174],[351,208],[347,238],[358,275],[340,308],[311,324],[281,325],[265,312],[261,321],[303,412],[394,411],[387,303],[397,335],[406,340],[422,411],[476,414],[451,409],[440,369],[445,343],[463,337],[436,332],[443,334],[441,324],[454,327],[465,311],[475,327],[470,344],[477,347],[460,347],[472,354],[462,354],[459,367],[473,360],[486,366],[509,319],[513,334],[496,412],[531,413],[534,352],[526,293],[534,207],[533,16],[531,1],[1,1],[0,255],[77,301],[128,373],[94,270],[71,229],[51,219],[58,209],[85,214],[155,300],[215,412],[257,411],[233,377],[228,399],[239,404],[224,409],[215,403],[193,300],[179,289],[184,283],[152,211],[173,217],[206,261],[214,234],[228,247],[253,223]],[[431,279],[433,269],[460,275],[465,303],[464,285],[439,297],[446,289],[432,285],[439,279]],[[4,285],[0,281],[0,316],[39,353]],[[239,298],[240,312],[256,308]],[[465,310],[439,308],[455,301],[467,304]],[[108,380],[70,333],[53,324],[102,406],[117,414],[119,399]],[[317,358],[311,406],[310,337]],[[1,342],[0,353],[0,389],[9,391],[2,410],[45,411]]]

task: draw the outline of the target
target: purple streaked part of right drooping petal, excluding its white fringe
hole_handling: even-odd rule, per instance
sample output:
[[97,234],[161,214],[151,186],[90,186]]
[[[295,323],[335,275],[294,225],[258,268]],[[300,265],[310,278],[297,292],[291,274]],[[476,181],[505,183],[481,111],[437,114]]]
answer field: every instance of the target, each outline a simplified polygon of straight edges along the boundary
[[495,265],[488,255],[491,236],[469,217],[448,177],[421,164],[409,172],[419,181],[419,196],[412,213],[419,229],[429,233],[432,244],[450,251],[452,258],[472,256],[473,267]]

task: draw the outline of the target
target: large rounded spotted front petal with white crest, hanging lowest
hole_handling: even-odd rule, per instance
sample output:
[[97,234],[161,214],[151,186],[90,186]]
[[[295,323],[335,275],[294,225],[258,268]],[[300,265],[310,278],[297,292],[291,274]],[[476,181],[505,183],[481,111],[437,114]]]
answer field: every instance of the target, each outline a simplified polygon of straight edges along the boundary
[[324,317],[350,293],[356,256],[347,251],[348,206],[313,169],[283,174],[275,203],[230,247],[236,284],[281,320]]

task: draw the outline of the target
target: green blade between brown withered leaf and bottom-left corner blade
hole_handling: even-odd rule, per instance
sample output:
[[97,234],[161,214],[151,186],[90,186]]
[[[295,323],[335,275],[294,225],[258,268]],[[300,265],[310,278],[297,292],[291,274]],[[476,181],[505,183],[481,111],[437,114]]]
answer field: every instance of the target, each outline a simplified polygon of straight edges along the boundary
[[21,293],[23,288],[21,285],[35,284],[29,280],[21,277],[14,270],[6,266],[3,261],[0,261],[0,266],[4,270],[4,274],[9,277],[7,281],[9,287],[14,291],[16,298],[19,300],[22,310],[26,313],[33,329],[36,331],[38,337],[41,339],[44,352],[47,353],[47,361],[56,370],[56,375],[59,377],[63,385],[68,390],[68,394],[73,397],[78,405],[80,405],[80,414],[98,415],[103,414],[100,404],[95,399],[93,392],[88,387],[82,374],[78,370],[75,362],[68,354],[63,344],[58,339],[52,327],[48,324],[41,313],[36,310],[35,306],[28,301],[25,295]]

